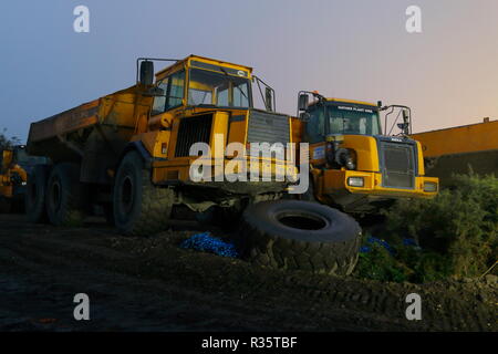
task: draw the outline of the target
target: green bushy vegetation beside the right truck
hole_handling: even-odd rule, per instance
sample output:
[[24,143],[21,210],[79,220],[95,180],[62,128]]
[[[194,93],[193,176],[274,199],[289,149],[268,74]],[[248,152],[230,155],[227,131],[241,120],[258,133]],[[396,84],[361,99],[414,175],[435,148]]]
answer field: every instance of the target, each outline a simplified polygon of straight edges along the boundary
[[[400,200],[382,235],[394,249],[367,244],[356,274],[385,281],[427,282],[479,277],[498,259],[498,178],[455,176],[455,185],[430,200]],[[413,239],[419,248],[403,244]],[[496,273],[496,270],[494,271]]]

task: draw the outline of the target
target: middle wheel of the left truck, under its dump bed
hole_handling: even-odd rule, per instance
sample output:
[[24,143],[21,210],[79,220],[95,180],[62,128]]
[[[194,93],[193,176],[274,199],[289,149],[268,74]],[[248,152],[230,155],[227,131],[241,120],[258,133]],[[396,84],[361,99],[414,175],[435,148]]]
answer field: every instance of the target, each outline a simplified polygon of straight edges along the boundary
[[62,163],[55,165],[46,184],[45,207],[54,226],[79,226],[83,221],[83,187],[80,166]]

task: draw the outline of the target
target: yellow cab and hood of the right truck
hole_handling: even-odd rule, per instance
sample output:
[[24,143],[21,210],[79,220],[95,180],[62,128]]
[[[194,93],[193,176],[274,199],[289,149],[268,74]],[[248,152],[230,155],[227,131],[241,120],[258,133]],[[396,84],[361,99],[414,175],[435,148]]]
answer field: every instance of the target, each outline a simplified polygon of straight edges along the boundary
[[[304,198],[345,212],[370,214],[398,198],[437,194],[438,179],[425,176],[421,144],[408,137],[408,107],[325,98],[305,91],[299,93],[298,105],[294,139],[310,143],[312,184]],[[401,128],[397,135],[392,134],[395,126]]]

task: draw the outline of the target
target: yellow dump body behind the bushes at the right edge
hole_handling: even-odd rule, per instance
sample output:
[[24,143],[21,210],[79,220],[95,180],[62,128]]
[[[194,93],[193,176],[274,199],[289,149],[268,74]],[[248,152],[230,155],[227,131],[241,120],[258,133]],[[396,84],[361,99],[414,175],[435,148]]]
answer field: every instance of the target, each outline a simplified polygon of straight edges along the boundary
[[413,134],[424,150],[426,170],[448,185],[453,174],[498,176],[498,121]]

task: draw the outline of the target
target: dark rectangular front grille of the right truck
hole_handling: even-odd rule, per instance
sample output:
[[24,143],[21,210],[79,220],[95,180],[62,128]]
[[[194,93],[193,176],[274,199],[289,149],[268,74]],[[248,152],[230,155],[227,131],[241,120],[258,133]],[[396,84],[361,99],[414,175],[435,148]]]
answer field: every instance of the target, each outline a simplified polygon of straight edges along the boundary
[[381,142],[382,185],[386,188],[415,187],[415,146]]

